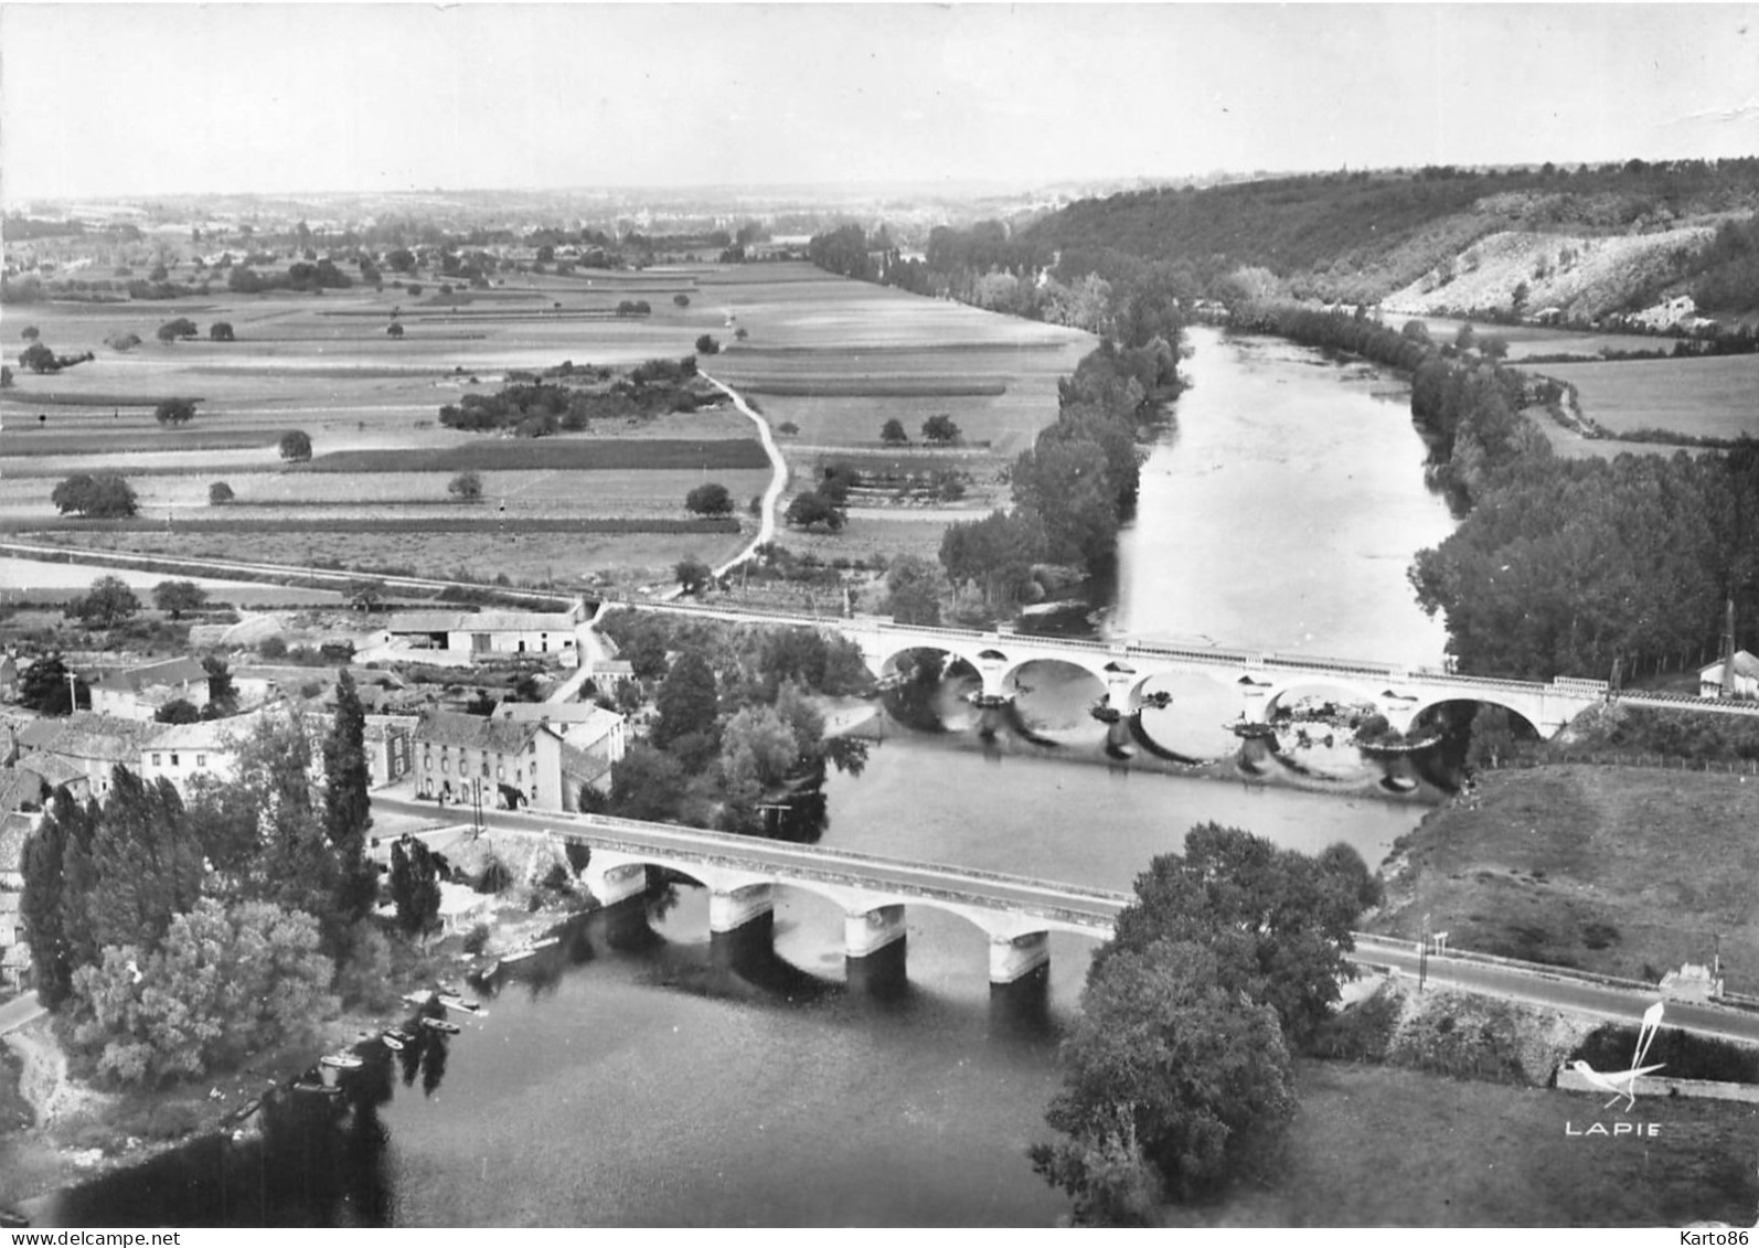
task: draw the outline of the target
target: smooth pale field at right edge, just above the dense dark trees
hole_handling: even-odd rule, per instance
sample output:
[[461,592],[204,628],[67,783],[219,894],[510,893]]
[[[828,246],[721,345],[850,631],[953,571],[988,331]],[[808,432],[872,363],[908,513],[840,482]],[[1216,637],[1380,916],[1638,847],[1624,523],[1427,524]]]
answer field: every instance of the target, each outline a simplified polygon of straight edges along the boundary
[[1759,434],[1759,355],[1543,364],[1537,371],[1574,385],[1583,415],[1608,429]]

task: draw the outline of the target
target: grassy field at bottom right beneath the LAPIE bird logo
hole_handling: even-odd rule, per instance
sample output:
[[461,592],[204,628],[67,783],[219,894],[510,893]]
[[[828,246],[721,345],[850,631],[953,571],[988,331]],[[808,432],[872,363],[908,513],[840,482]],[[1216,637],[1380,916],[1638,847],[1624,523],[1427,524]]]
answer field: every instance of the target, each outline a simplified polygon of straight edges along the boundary
[[1604,1097],[1302,1062],[1284,1164],[1263,1190],[1175,1215],[1200,1227],[1754,1225],[1759,1107],[1639,1100],[1652,1141],[1566,1134]]

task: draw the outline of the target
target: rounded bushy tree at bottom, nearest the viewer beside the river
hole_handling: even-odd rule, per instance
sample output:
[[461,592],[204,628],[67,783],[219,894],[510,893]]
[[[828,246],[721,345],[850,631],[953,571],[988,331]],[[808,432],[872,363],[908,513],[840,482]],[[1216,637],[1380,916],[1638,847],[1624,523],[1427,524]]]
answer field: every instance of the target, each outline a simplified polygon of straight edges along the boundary
[[1295,1113],[1277,1014],[1226,986],[1215,953],[1156,940],[1094,963],[1045,1121],[1066,1139],[1031,1148],[1077,1218],[1150,1223],[1164,1197],[1208,1194],[1268,1171]]

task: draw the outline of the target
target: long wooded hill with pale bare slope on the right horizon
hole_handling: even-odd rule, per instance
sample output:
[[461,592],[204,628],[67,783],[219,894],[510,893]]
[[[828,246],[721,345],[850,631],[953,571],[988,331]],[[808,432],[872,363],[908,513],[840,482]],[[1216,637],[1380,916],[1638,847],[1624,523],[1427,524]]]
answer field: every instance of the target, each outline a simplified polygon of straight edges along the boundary
[[[1316,174],[1091,199],[1018,237],[1071,271],[1164,260],[1210,290],[1254,267],[1325,302],[1594,322],[1673,301],[1759,311],[1759,158]],[[1685,304],[1682,297],[1690,299]]]

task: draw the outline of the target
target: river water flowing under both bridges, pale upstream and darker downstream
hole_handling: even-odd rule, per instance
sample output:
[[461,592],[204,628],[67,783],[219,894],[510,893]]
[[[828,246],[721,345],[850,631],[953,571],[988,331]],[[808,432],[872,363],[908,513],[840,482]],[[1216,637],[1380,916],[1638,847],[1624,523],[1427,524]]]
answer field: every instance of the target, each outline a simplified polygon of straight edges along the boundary
[[[1270,339],[1191,334],[1193,388],[1143,469],[1119,619],[1347,657],[1435,661],[1404,589],[1446,536],[1400,388]],[[1101,766],[1092,691],[1040,680],[1031,719],[1092,766],[1006,733],[887,726],[827,782],[823,844],[1128,889],[1193,823],[1372,865],[1423,812],[1365,793]],[[953,726],[960,721],[953,719]],[[1171,731],[1171,726],[1168,726]],[[774,961],[716,967],[681,888],[630,940],[602,918],[500,981],[485,1018],[378,1055],[341,1097],[288,1093],[266,1130],[35,1204],[58,1225],[1048,1225],[1055,1041],[1091,942],[1054,937],[1038,997],[992,997],[982,933],[908,912],[909,983],[846,991],[843,916],[777,889]],[[406,1069],[399,1062],[406,1060]]]

